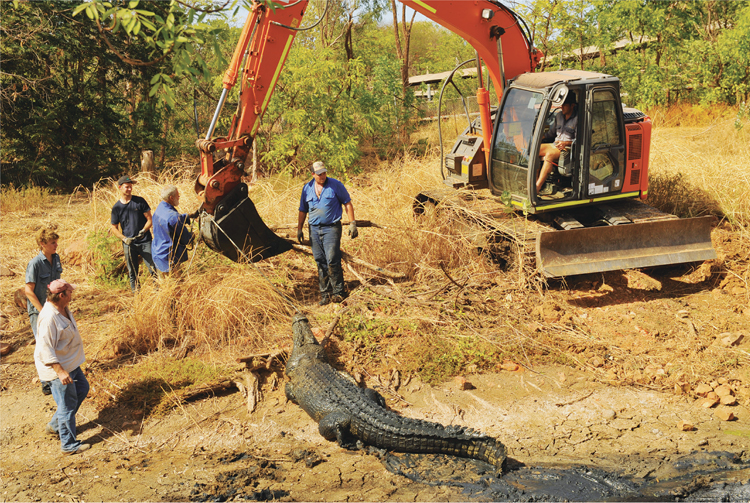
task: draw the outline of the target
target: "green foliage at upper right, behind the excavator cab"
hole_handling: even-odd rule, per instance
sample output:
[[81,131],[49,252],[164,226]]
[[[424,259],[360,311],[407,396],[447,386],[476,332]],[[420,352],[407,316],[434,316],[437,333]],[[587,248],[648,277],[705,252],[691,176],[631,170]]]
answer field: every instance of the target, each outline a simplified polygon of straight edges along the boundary
[[[616,75],[630,105],[737,104],[750,97],[746,0],[535,0],[519,11],[548,56],[542,70]],[[621,41],[630,44],[616,47]],[[589,46],[604,54],[586,59],[573,53]]]

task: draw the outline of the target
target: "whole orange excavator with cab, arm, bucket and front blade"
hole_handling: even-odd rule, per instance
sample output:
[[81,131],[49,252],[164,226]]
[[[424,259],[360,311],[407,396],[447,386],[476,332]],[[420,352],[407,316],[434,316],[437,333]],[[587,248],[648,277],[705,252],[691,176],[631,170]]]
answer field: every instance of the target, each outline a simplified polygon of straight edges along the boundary
[[[476,58],[470,62],[476,63],[479,81],[479,117],[467,117],[467,128],[451,152],[441,155],[445,187],[417,195],[417,213],[429,204],[450,205],[460,199],[513,208],[517,218],[508,218],[508,211],[488,210],[484,218],[473,218],[473,224],[491,228],[516,248],[532,250],[537,269],[547,277],[716,257],[712,217],[680,219],[643,202],[648,195],[651,120],[623,106],[616,77],[575,70],[534,73],[543,55],[533,47],[524,21],[497,0],[401,1],[472,45]],[[300,25],[307,4],[282,1],[274,9],[253,4],[211,125],[196,142],[201,156],[195,184],[203,201],[201,235],[209,247],[232,260],[257,261],[292,247],[263,223],[242,176],[294,37],[304,29]],[[493,83],[496,108],[485,88],[485,72]],[[238,79],[240,99],[229,133],[214,137],[227,94]],[[540,150],[554,137],[563,104],[571,102],[577,116],[569,131],[573,141],[555,160],[552,172],[540,177]]]

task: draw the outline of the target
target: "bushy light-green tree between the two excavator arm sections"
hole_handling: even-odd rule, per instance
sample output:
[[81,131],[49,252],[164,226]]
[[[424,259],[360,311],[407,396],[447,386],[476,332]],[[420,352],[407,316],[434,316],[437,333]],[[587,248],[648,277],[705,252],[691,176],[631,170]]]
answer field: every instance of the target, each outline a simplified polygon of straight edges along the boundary
[[396,98],[398,61],[390,55],[374,61],[368,68],[361,58],[342,61],[330,47],[296,45],[261,129],[263,162],[297,173],[324,159],[334,176],[346,177],[358,171],[363,142],[393,148],[414,113],[411,94]]

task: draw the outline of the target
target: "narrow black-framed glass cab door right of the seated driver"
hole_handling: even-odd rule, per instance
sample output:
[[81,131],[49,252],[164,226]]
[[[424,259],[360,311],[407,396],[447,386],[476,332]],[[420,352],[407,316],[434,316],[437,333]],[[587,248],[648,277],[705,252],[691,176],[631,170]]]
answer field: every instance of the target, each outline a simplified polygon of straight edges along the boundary
[[622,192],[625,174],[625,129],[619,89],[594,86],[586,98],[585,172],[581,177],[582,193],[588,198]]

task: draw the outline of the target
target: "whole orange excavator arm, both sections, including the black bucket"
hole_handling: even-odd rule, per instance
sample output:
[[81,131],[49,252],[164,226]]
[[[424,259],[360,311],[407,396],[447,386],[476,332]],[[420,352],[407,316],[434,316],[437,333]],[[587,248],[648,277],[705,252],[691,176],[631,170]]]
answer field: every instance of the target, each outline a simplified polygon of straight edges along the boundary
[[[477,52],[484,152],[489,161],[489,92],[482,80],[482,62],[494,82],[498,99],[506,79],[533,70],[541,57],[523,21],[495,0],[404,0],[404,4],[463,37]],[[223,90],[206,137],[196,146],[201,173],[195,183],[202,200],[201,235],[213,250],[232,260],[257,261],[291,249],[263,223],[242,183],[245,162],[274,86],[289,54],[308,0],[287,0],[270,8],[254,3],[223,80]],[[240,80],[237,112],[226,137],[213,137],[229,90]]]

